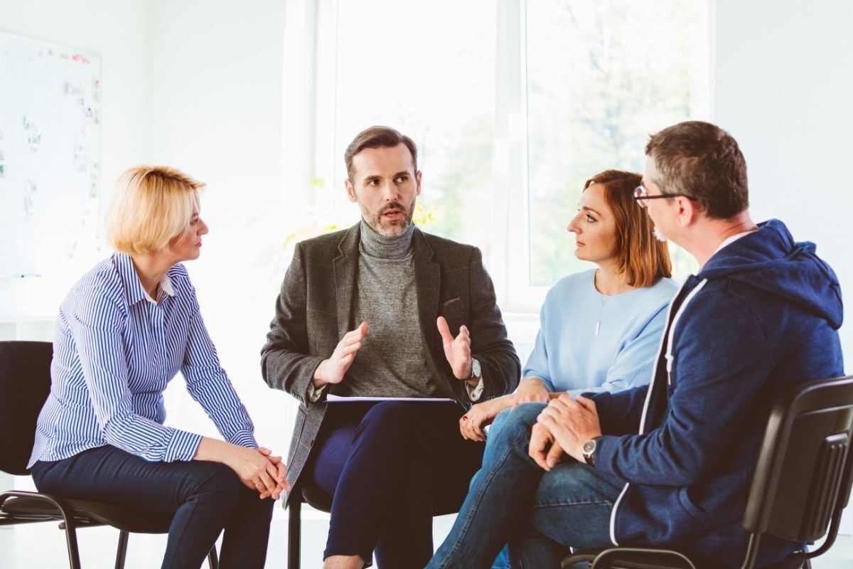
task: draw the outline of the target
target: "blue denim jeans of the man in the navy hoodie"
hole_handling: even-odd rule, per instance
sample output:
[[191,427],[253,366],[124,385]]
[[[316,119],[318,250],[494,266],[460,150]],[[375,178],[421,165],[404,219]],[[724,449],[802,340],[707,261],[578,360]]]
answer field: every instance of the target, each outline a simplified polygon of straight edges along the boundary
[[427,565],[486,568],[504,543],[512,566],[559,567],[568,548],[612,545],[610,514],[624,481],[563,456],[546,473],[527,454],[545,404],[520,404],[493,429],[483,467],[447,539]]

